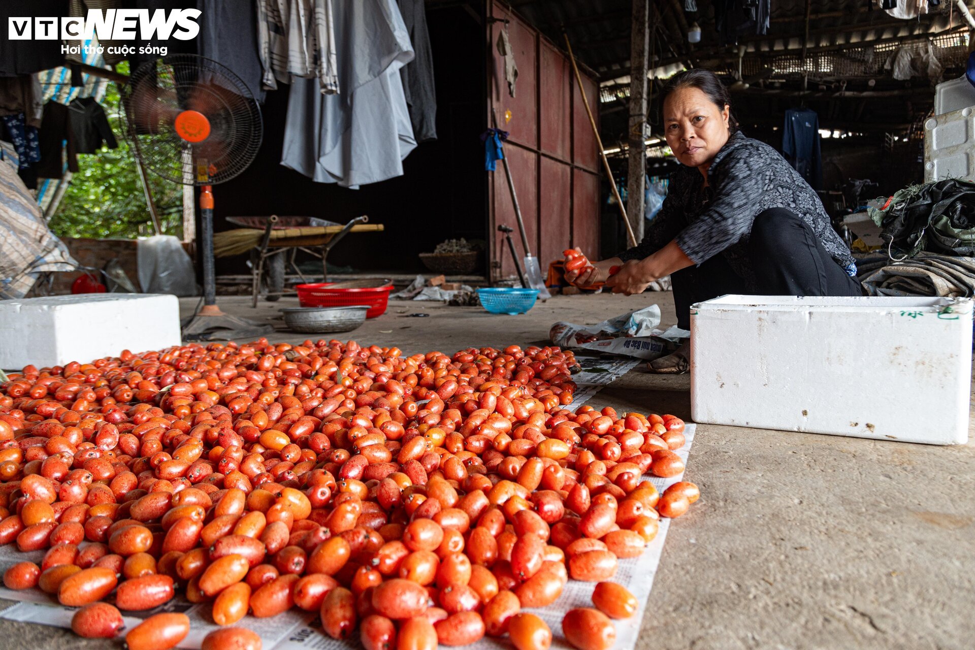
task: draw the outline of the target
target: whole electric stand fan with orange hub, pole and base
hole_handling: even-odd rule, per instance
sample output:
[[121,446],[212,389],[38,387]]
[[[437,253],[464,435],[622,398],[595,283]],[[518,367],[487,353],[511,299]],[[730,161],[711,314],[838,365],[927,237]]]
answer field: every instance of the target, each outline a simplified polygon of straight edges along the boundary
[[121,88],[124,130],[137,159],[167,180],[200,187],[203,306],[183,324],[183,339],[273,332],[216,306],[213,186],[244,172],[257,155],[262,129],[254,94],[226,66],[195,55],[143,63]]

